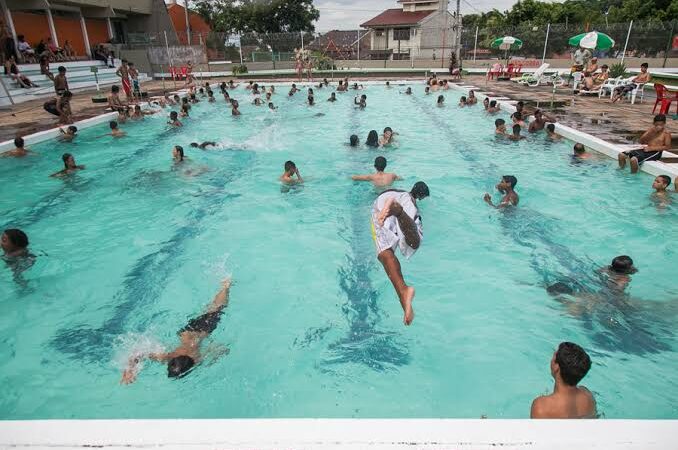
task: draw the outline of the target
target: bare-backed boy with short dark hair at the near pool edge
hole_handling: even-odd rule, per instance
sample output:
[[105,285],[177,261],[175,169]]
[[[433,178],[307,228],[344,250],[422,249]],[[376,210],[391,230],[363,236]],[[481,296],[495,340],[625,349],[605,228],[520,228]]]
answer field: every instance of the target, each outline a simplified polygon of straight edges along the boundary
[[562,342],[551,358],[553,393],[532,402],[532,419],[595,419],[596,401],[591,391],[577,384],[591,369],[591,358],[583,348]]

